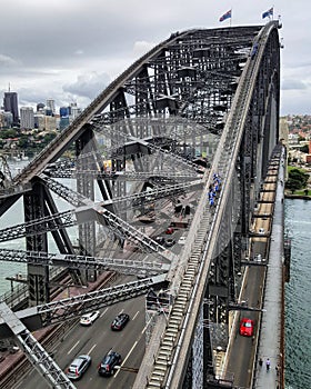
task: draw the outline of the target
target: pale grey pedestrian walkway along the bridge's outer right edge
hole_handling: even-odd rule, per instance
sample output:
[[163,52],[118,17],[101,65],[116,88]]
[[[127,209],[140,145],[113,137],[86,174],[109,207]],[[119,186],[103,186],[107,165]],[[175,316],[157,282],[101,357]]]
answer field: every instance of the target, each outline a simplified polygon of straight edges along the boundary
[[[263,313],[259,338],[258,363],[253,388],[280,389],[282,366],[282,315],[283,315],[283,184],[284,167],[281,160],[272,221],[271,245],[263,300]],[[260,358],[262,363],[260,363]],[[270,369],[267,369],[269,358]]]

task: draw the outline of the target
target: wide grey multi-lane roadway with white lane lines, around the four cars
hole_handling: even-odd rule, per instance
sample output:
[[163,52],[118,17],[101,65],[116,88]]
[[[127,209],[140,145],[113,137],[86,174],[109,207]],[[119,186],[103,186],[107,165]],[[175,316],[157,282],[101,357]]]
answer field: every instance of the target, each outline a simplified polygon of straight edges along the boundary
[[[129,313],[131,320],[122,331],[112,331],[110,329],[111,321],[121,311]],[[66,370],[77,356],[90,355],[92,365],[79,381],[74,381],[77,388],[131,388],[136,379],[134,371],[139,369],[144,355],[144,298],[140,297],[101,309],[100,317],[92,326],[83,327],[78,322],[64,336],[62,342],[56,345],[54,350],[52,350],[56,362]],[[117,370],[112,377],[100,377],[97,367],[110,349],[121,355],[121,369]],[[14,389],[33,388],[48,388],[47,381],[34,369],[14,387]]]

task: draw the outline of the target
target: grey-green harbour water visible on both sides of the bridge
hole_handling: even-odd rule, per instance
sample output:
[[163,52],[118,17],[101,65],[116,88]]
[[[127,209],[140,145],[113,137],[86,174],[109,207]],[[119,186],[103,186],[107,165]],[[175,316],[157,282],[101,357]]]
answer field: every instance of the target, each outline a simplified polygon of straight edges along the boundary
[[[12,211],[13,210],[13,211]],[[0,220],[0,229],[22,222],[18,202]],[[311,201],[285,200],[285,228],[292,238],[291,278],[285,286],[285,382],[287,389],[311,387]],[[23,240],[0,243],[0,248],[24,249]],[[50,247],[51,252],[56,252]],[[6,277],[26,273],[26,266],[1,262],[0,295],[11,285]],[[268,388],[267,388],[268,389]]]

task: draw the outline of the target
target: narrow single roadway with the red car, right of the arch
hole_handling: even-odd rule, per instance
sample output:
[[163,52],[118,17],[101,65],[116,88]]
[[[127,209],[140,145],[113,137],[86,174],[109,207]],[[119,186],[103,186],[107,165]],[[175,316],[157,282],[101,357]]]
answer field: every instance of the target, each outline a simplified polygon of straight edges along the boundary
[[[254,210],[254,221],[251,227],[253,237],[250,239],[249,266],[247,266],[239,302],[244,306],[243,310],[237,311],[231,339],[231,347],[228,353],[227,372],[233,373],[233,385],[237,388],[250,388],[254,371],[255,353],[262,313],[248,310],[247,308],[262,307],[263,286],[267,272],[267,259],[269,250],[269,236],[271,233],[271,221],[273,201],[275,198],[275,179],[263,184],[261,201]],[[264,202],[268,201],[268,202]],[[263,232],[259,232],[263,229]],[[254,321],[254,337],[243,337],[239,333],[240,320],[249,318]]]

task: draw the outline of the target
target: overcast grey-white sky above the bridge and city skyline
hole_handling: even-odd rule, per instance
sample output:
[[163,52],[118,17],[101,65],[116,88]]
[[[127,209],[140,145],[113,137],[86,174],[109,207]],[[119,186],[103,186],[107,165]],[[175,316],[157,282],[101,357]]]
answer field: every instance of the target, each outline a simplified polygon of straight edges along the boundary
[[[3,3],[4,0],[1,0]],[[281,114],[311,113],[310,0],[10,0],[1,7],[0,104],[54,99],[84,108],[136,59],[173,31],[263,24],[281,16]]]

